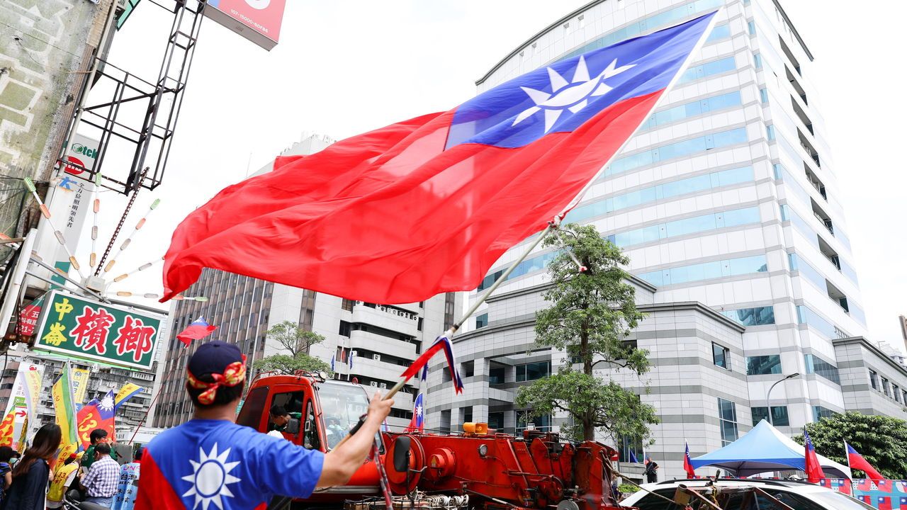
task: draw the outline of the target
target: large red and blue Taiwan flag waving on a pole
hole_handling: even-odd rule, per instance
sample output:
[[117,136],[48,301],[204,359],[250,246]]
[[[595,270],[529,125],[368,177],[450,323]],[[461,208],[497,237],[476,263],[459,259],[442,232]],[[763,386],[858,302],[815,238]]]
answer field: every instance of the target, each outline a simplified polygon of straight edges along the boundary
[[278,158],[273,172],[229,186],[180,223],[162,300],[206,267],[376,303],[475,289],[505,250],[576,205],[715,18],[545,65],[447,112]]

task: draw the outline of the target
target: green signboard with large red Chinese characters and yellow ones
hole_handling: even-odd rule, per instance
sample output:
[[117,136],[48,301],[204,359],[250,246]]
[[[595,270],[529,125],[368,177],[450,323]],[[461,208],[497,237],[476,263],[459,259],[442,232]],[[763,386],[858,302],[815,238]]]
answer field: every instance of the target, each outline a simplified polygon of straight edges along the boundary
[[164,317],[54,290],[44,301],[34,349],[150,369]]

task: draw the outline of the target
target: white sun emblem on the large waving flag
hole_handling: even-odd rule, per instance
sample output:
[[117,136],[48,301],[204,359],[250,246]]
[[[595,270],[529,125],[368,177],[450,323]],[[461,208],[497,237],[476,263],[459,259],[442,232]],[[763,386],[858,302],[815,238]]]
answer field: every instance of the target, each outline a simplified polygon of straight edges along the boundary
[[601,74],[590,78],[586,60],[580,56],[580,62],[576,64],[576,71],[573,72],[573,81],[570,83],[561,74],[549,67],[548,78],[551,80],[551,93],[537,91],[529,87],[520,87],[524,93],[529,95],[535,106],[523,110],[513,119],[511,125],[515,126],[518,123],[522,123],[522,121],[543,110],[545,112],[545,132],[549,132],[564,110],[570,110],[571,113],[579,112],[589,104],[590,97],[605,95],[611,91],[612,87],[605,83],[605,80],[621,74],[636,65],[629,64],[617,67],[617,64],[617,60],[612,61]]

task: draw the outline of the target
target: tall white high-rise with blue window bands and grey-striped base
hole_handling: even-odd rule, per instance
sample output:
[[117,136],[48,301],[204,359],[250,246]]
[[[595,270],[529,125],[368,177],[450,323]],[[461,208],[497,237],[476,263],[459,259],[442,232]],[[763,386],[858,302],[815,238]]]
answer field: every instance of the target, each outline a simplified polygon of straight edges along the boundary
[[[836,177],[849,169],[831,159],[810,82],[814,55],[777,0],[592,1],[516,47],[477,82],[478,92],[718,8],[686,72],[566,219],[595,225],[631,260],[640,308],[650,313],[632,339],[649,348],[655,368],[642,379],[597,373],[638,388],[658,408],[648,453],[666,466],[662,476],[682,474],[685,439],[694,456],[713,450],[769,407],[775,426],[791,435],[852,408],[907,417],[907,371],[863,339]],[[434,370],[429,427],[466,418],[525,427],[514,392],[562,364],[562,353],[533,347],[554,255],[535,250],[455,339],[467,391],[453,397],[444,372]],[[857,367],[860,352],[874,368]],[[872,379],[878,370],[888,374],[887,388]],[[769,400],[769,388],[794,374]],[[534,419],[556,427],[563,417]]]

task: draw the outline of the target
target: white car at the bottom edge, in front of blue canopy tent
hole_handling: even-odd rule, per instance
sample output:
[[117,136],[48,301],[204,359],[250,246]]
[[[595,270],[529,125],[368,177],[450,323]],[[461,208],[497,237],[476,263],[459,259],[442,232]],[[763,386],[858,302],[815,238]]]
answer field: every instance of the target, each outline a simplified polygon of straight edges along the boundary
[[[640,510],[682,510],[683,506],[658,497],[663,495],[673,500],[679,485],[686,485],[701,495],[711,495],[713,487],[719,492],[719,502],[723,510],[873,510],[873,507],[849,495],[835,492],[831,489],[805,482],[793,480],[766,480],[759,478],[747,479],[718,479],[712,482],[708,479],[697,480],[672,480],[658,484],[642,485],[649,491],[640,490],[629,495],[620,502],[624,506],[636,506]],[[766,497],[759,490],[765,491],[781,502],[775,504],[771,498]],[[694,510],[709,510],[709,506],[698,502],[695,498],[689,502]]]

